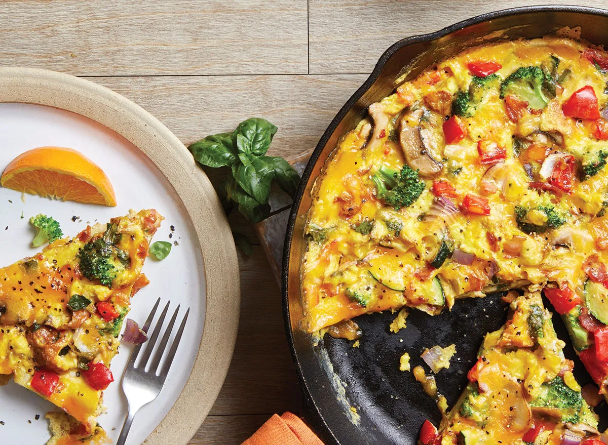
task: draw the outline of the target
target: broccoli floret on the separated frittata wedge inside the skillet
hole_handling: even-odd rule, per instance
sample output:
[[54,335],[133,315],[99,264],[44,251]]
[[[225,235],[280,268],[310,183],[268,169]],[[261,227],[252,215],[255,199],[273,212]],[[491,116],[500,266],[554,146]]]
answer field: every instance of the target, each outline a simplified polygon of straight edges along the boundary
[[[581,417],[589,421],[585,410],[587,404],[583,401],[581,392],[570,389],[561,377],[558,376],[550,382],[542,384],[540,389],[539,396],[530,402],[530,406],[556,408],[562,413],[564,423],[579,423]],[[593,425],[590,424],[590,426]]]

